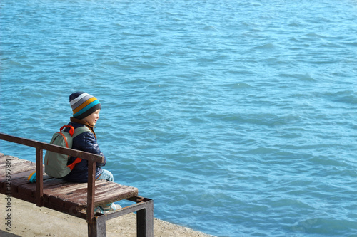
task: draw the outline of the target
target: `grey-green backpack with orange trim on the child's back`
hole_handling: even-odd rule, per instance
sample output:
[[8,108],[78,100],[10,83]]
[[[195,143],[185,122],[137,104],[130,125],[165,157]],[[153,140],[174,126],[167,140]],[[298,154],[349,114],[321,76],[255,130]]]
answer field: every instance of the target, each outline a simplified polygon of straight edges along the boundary
[[[69,132],[62,132],[64,127],[69,127]],[[80,135],[83,132],[90,132],[88,127],[77,127],[74,129],[73,126],[63,126],[59,130],[59,132],[54,133],[52,136],[50,144],[55,144],[61,147],[68,147],[72,148],[72,142],[74,137]],[[45,165],[45,172],[51,177],[54,178],[63,178],[71,170],[74,166],[81,162],[81,158],[76,158],[72,164],[67,165],[69,156],[66,154],[59,154],[56,152],[49,152],[46,151],[44,165]]]

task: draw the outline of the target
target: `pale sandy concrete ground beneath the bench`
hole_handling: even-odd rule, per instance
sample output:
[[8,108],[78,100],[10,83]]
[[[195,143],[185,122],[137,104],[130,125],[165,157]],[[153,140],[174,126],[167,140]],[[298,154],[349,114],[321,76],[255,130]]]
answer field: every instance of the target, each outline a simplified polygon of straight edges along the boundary
[[[2,220],[0,236],[87,236],[85,220],[14,198],[11,198],[11,232],[6,231],[4,219],[8,212],[5,209],[5,197],[0,194],[0,219]],[[106,236],[136,236],[136,214],[106,221]],[[154,236],[208,237],[209,235],[155,218]]]

